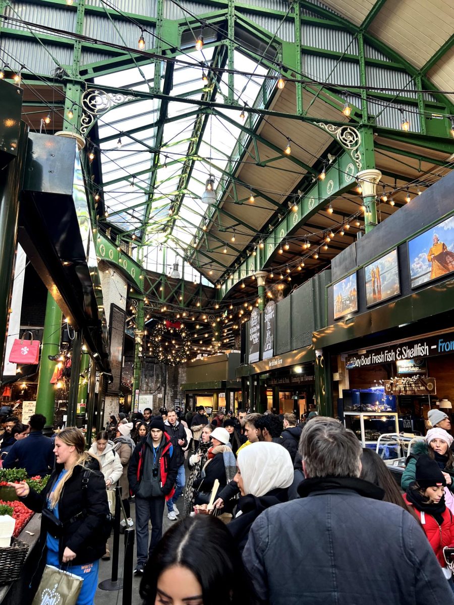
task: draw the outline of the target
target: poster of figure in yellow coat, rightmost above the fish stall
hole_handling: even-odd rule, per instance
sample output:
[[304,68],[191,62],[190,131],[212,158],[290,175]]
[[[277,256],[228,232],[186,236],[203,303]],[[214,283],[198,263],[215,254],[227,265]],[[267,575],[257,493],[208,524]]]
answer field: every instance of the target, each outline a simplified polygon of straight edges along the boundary
[[454,271],[454,217],[408,243],[412,288]]

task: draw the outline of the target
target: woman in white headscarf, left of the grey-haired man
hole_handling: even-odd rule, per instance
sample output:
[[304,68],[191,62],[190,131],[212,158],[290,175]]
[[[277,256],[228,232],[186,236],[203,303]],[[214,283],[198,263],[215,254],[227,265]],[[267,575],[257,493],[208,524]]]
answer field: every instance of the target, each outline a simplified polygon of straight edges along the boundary
[[261,512],[288,501],[293,482],[293,464],[288,451],[279,443],[251,443],[240,451],[234,477],[240,490],[237,513],[228,524],[241,552],[248,541],[249,529]]

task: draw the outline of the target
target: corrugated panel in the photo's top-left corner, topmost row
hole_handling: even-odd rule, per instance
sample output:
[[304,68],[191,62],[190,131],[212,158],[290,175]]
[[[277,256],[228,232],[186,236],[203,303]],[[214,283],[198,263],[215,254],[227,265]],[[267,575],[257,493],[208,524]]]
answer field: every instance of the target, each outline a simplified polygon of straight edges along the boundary
[[[41,3],[11,2],[10,6],[7,5],[5,7],[5,16],[24,19],[24,21],[30,21],[37,25],[47,25],[48,27],[67,31],[74,31],[74,24],[76,22],[76,11],[68,10],[66,6],[62,6],[62,8],[54,8],[48,5],[42,6]],[[11,23],[9,26],[7,23],[5,25],[6,27],[18,30],[28,30],[26,26],[19,25],[16,22]]]

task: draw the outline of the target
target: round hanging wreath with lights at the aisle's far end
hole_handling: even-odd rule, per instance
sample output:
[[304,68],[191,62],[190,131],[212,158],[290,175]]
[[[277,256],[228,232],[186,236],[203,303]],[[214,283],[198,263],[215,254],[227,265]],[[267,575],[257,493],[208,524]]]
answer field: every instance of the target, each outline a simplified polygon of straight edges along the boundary
[[180,322],[160,321],[150,335],[150,354],[165,365],[188,361],[191,337]]

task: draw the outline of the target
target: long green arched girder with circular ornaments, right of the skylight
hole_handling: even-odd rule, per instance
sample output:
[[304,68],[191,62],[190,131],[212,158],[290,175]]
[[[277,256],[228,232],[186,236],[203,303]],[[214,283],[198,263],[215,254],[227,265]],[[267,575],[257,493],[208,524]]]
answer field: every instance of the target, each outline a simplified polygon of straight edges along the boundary
[[352,157],[344,152],[327,169],[326,178],[317,180],[314,185],[304,193],[298,204],[297,212],[289,212],[274,231],[264,241],[263,249],[257,248],[255,257],[250,256],[235,270],[229,271],[231,278],[227,278],[219,290],[219,299],[225,298],[229,291],[255,271],[266,270],[269,261],[274,256],[281,242],[293,234],[323,209],[332,197],[341,195],[352,188],[357,168],[352,163]]

